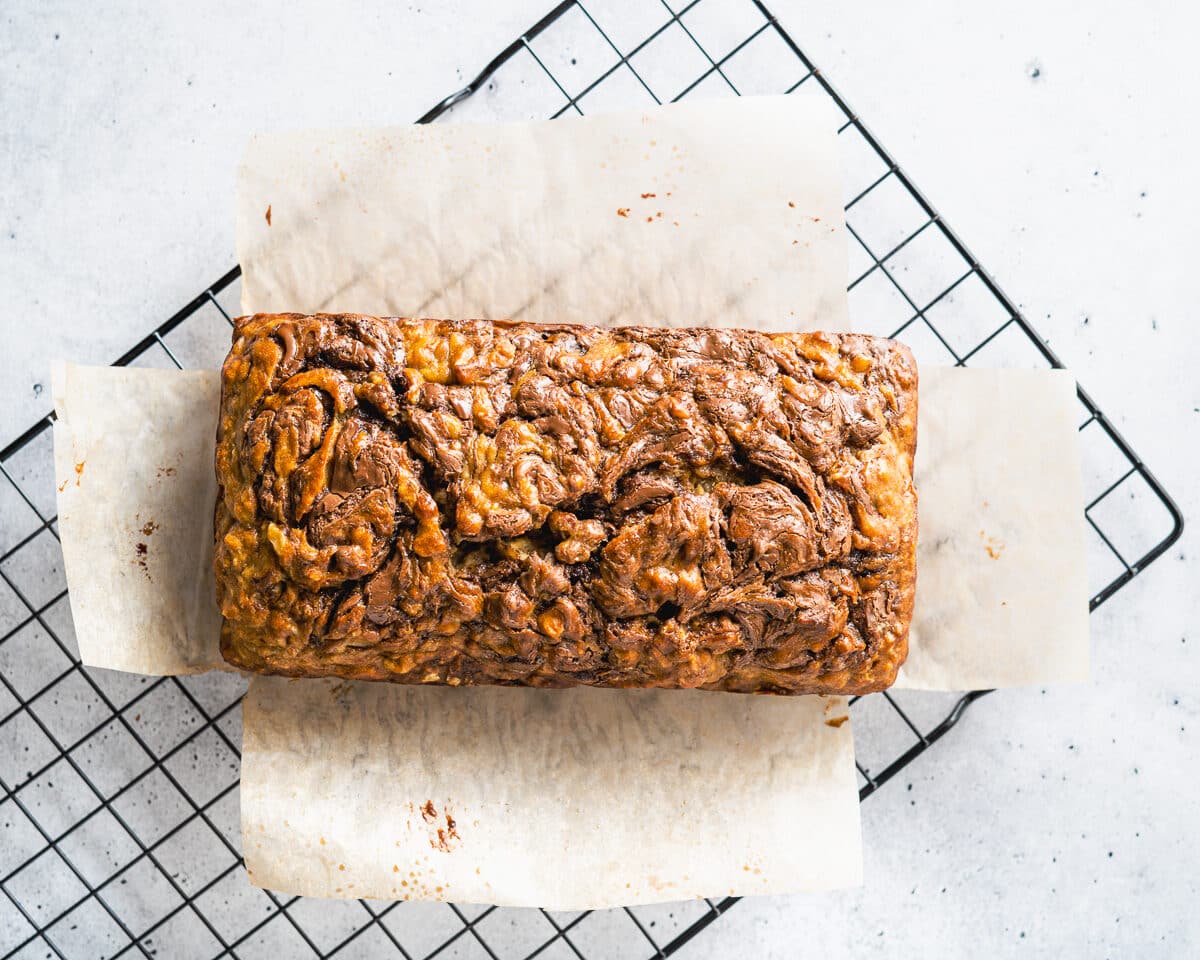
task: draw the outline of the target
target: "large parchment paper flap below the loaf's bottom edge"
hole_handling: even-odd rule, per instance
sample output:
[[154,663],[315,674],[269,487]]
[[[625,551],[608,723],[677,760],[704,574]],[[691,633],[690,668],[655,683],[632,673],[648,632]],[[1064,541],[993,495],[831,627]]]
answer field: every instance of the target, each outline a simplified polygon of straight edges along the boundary
[[[251,880],[582,910],[862,882],[841,697],[289,683],[245,701]],[[335,815],[336,811],[336,815]]]

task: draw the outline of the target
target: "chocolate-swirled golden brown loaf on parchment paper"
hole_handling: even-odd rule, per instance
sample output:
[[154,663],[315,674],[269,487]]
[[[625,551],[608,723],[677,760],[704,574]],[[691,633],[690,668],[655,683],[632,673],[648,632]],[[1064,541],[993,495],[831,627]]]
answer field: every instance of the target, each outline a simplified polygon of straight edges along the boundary
[[245,317],[221,650],[293,677],[881,690],[916,422],[912,355],[863,335]]

